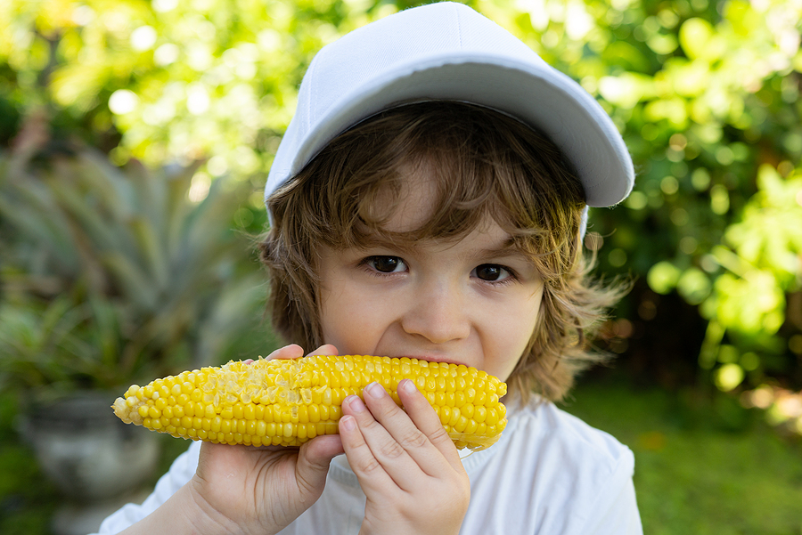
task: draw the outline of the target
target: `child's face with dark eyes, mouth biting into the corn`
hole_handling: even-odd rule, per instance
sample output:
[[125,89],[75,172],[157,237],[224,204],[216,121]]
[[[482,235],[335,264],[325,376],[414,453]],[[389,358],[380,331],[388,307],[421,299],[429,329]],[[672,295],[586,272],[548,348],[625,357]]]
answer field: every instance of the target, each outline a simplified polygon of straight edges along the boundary
[[[429,215],[426,173],[407,184],[389,231]],[[492,220],[459,240],[324,247],[319,268],[323,341],[340,354],[454,362],[502,380],[528,345],[543,295],[534,264]]]

